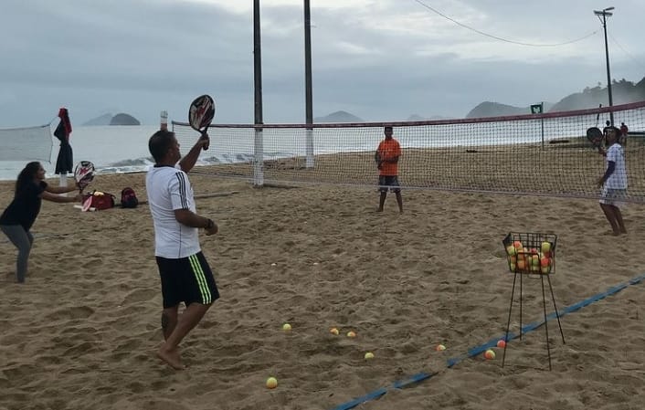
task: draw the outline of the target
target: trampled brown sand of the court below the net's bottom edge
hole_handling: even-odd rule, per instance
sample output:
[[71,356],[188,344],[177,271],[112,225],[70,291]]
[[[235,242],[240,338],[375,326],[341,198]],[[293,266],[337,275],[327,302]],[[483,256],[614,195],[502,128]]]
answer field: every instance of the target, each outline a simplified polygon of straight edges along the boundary
[[[624,208],[629,234],[613,237],[590,199],[406,190],[403,215],[393,195],[378,214],[375,188],[191,178],[196,194],[221,194],[197,200],[219,225],[202,249],[221,299],[183,343],[188,369],[154,356],[161,292],[147,205],[45,203],[25,285],[0,237],[0,409],[333,409],[380,388],[357,408],[643,408],[645,282],[564,316],[566,343],[549,321],[551,371],[544,327],[509,342],[504,367],[497,348],[495,360],[447,367],[506,329],[506,234],[557,235],[551,281],[565,308],[645,273],[643,205]],[[143,173],[92,184],[125,186],[146,199]],[[13,183],[0,189],[4,208]],[[538,321],[540,280],[523,280],[523,323]],[[392,388],[420,372],[436,374]]]

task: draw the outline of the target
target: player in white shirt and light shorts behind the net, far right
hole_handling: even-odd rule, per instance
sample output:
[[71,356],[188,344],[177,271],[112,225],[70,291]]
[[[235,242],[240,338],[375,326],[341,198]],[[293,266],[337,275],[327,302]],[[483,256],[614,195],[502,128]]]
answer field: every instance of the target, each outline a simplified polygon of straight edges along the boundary
[[607,168],[605,173],[598,180],[598,186],[602,187],[602,199],[600,208],[607,216],[614,235],[627,234],[623,223],[622,213],[619,206],[627,197],[627,169],[625,166],[625,152],[618,143],[620,130],[616,127],[608,127],[607,130]]

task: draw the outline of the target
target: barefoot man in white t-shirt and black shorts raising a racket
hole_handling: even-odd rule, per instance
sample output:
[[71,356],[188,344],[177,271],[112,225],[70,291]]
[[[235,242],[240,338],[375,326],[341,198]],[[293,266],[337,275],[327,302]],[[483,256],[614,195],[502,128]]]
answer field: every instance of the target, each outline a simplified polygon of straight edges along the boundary
[[[179,343],[219,298],[213,273],[199,246],[198,232],[201,227],[206,235],[214,235],[217,225],[196,214],[193,188],[186,174],[207,143],[208,136],[204,134],[181,158],[179,142],[172,131],[157,131],[148,142],[154,167],[146,175],[145,188],[153,215],[154,256],[164,297],[165,342],[157,356],[177,370],[185,368]],[[181,302],[185,310],[179,316]]]

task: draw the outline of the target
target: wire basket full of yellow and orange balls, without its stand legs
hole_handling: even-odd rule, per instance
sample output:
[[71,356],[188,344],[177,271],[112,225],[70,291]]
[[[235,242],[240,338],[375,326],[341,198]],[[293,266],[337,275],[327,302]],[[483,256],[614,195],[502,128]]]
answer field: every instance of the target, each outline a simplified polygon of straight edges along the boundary
[[510,232],[502,240],[513,273],[550,275],[555,271],[555,234]]

